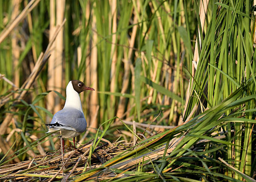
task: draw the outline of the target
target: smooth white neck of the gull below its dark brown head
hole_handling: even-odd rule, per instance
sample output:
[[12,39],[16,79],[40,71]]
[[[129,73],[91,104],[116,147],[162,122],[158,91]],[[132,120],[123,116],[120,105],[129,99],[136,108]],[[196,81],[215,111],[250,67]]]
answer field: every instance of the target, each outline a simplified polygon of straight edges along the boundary
[[66,102],[65,102],[63,109],[71,107],[71,108],[74,108],[74,109],[77,109],[77,110],[83,112],[82,103],[81,103],[81,100],[79,97],[79,93],[77,93],[77,91],[74,90],[71,81],[67,85],[66,95],[67,95]]

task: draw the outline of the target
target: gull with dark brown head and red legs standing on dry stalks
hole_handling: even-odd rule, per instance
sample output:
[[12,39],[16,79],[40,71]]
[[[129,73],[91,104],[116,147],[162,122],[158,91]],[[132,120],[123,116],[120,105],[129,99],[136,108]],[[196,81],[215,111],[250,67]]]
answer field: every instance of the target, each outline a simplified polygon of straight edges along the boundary
[[56,112],[51,120],[49,130],[46,133],[53,133],[53,135],[61,135],[62,150],[64,151],[64,139],[72,138],[75,146],[75,137],[86,130],[87,122],[84,118],[82,110],[82,103],[79,93],[84,90],[94,90],[91,87],[86,87],[83,82],[79,80],[71,80],[66,88],[66,102],[62,110]]

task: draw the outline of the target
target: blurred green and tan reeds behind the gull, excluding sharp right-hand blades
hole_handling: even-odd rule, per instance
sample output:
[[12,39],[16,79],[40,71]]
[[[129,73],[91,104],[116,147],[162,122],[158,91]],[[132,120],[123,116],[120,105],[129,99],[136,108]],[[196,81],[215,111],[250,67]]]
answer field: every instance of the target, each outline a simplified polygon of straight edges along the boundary
[[[0,2],[2,30],[31,2]],[[33,1],[30,8],[1,42],[0,73],[15,85],[1,80],[1,95],[23,85],[65,19],[49,59],[22,98],[24,102],[31,104],[38,94],[51,90],[65,97],[67,83],[82,80],[96,90],[80,94],[90,132],[114,116],[148,123],[160,114],[157,125],[177,125],[189,80],[182,67],[189,70],[191,66],[177,29],[185,27],[183,2],[41,0]],[[191,11],[189,21],[196,18]],[[190,28],[195,39],[196,26]],[[28,120],[26,130],[46,130],[50,113],[64,106],[64,99],[56,92],[33,104],[37,107],[28,111],[30,118],[24,119],[28,108],[19,105],[13,113],[16,119],[6,129],[13,130]],[[1,109],[8,107],[11,105]]]

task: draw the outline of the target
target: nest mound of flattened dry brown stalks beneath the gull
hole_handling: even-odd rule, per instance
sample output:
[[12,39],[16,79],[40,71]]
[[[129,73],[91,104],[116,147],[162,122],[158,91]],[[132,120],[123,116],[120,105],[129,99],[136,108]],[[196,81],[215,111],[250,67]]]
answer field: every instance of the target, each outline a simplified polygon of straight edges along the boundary
[[[100,143],[99,147],[90,156],[92,144],[93,141],[90,141],[81,145],[78,149],[66,147],[63,156],[61,155],[61,150],[47,151],[45,155],[38,155],[33,160],[0,166],[0,181],[72,180],[73,177],[82,172],[100,167],[103,163],[120,154],[120,152],[133,146],[132,143],[125,143],[124,141],[104,142]],[[88,160],[89,156],[90,160]],[[97,179],[97,176],[91,179]]]

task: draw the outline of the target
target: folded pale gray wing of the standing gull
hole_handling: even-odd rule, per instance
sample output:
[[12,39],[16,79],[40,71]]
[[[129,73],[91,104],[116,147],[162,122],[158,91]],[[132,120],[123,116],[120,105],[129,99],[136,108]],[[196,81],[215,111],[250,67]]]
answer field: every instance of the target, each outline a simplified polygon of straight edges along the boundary
[[63,109],[56,112],[51,120],[51,124],[56,122],[63,125],[63,127],[65,127],[63,129],[74,130],[79,133],[84,132],[87,127],[84,113],[76,109]]

